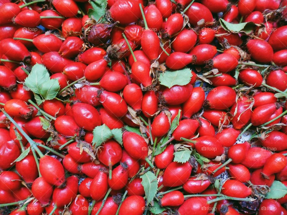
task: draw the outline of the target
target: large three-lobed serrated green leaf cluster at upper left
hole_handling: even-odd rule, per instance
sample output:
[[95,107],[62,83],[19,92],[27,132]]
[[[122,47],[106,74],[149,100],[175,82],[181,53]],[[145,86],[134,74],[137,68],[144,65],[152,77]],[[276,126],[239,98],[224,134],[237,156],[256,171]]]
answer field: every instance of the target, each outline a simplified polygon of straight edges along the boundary
[[32,67],[31,73],[25,79],[25,86],[33,91],[38,105],[45,100],[54,99],[60,90],[59,81],[50,79],[48,70],[42,64]]

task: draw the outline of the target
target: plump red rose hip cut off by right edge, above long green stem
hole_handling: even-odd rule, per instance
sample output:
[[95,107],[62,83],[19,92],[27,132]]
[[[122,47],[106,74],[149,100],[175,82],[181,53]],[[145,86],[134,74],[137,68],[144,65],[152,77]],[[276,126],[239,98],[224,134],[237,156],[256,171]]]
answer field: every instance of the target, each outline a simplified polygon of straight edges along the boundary
[[287,75],[283,70],[273,70],[267,76],[266,84],[284,91],[287,88]]

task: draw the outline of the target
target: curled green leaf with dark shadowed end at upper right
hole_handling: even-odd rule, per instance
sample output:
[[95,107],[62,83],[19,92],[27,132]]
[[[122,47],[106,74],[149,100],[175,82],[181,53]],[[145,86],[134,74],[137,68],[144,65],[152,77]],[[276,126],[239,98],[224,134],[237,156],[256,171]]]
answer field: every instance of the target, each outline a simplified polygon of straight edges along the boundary
[[253,22],[242,22],[239,24],[232,24],[230,22],[225,21],[224,19],[219,19],[219,22],[224,30],[233,33],[244,32],[246,34],[250,34],[254,30],[254,27],[257,26]]

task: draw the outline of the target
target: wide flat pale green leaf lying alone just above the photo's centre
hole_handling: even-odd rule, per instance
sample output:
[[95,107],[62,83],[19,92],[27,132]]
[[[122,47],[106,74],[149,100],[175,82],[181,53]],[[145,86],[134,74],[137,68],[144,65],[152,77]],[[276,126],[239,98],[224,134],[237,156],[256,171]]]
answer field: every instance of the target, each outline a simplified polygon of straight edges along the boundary
[[187,85],[191,80],[192,74],[189,68],[184,68],[177,71],[165,71],[160,73],[159,82],[168,88],[174,85]]

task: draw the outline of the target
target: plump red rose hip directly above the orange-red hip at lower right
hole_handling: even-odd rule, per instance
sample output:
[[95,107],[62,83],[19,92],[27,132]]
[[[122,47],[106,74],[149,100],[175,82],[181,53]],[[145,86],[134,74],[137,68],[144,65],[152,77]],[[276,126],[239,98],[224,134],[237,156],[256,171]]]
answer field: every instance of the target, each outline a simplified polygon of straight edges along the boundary
[[250,172],[248,168],[243,166],[242,164],[229,164],[228,165],[228,173],[233,179],[246,183],[250,180]]

